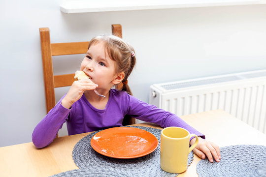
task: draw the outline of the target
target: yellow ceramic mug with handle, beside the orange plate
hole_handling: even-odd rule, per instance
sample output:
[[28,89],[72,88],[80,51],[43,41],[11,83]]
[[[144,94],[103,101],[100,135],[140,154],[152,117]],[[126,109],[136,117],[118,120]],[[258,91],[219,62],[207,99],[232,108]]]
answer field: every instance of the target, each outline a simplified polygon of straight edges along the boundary
[[[192,137],[196,142],[189,148]],[[166,127],[161,132],[161,169],[168,173],[182,173],[187,170],[188,154],[199,142],[195,134],[180,127]]]

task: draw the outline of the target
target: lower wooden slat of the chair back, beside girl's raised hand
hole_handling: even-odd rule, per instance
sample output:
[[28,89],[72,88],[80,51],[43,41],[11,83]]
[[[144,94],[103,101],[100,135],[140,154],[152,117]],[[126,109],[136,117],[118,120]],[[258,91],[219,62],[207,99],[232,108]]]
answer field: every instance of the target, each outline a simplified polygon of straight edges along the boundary
[[63,74],[54,76],[55,88],[71,86],[75,81],[75,74]]

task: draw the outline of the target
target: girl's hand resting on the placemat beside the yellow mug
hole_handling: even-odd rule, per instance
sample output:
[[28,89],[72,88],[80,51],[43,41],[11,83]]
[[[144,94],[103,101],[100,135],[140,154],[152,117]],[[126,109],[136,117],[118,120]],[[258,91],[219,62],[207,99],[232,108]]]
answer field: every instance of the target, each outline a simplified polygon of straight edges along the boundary
[[[196,146],[196,148],[193,149],[193,152],[202,159],[205,159],[207,156],[210,162],[213,162],[213,158],[215,159],[216,162],[220,162],[221,154],[219,146],[200,137],[198,138],[199,138],[199,143]],[[193,145],[195,141],[196,138],[193,138],[190,141],[190,145]]]

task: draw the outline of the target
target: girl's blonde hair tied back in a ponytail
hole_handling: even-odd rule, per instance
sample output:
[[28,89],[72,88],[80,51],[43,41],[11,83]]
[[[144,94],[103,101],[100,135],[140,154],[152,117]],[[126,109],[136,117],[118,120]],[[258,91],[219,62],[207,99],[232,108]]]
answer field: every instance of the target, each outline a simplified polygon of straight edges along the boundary
[[[103,42],[109,57],[116,61],[116,71],[125,73],[122,83],[127,83],[126,81],[128,80],[128,77],[136,63],[136,58],[134,55],[132,55],[135,52],[133,47],[125,40],[115,35],[100,35],[94,37],[90,41],[88,49],[98,42]],[[120,88],[116,86],[116,89]],[[124,90],[132,95],[128,84],[123,84],[123,87],[120,90]]]

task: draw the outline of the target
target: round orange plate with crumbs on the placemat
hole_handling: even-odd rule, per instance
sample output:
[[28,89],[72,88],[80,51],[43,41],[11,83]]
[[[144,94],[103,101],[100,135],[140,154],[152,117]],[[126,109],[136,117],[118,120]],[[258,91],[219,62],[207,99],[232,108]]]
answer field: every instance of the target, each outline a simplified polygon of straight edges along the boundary
[[150,132],[139,128],[114,127],[95,134],[91,145],[102,155],[129,159],[152,153],[158,147],[158,140]]

